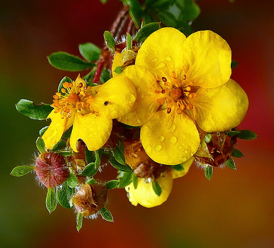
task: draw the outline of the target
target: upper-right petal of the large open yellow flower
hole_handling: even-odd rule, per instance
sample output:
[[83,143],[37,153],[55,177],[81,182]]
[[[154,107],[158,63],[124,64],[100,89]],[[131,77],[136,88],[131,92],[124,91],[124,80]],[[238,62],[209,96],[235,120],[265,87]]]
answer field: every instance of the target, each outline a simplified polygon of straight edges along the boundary
[[214,32],[206,30],[189,35],[183,43],[182,51],[187,82],[213,88],[226,83],[230,78],[231,49]]

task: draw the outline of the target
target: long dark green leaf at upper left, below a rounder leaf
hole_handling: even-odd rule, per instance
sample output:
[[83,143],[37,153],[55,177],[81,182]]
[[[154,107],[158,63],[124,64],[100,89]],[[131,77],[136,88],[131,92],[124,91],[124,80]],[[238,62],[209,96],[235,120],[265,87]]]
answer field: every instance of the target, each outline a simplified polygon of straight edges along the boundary
[[79,57],[65,53],[56,52],[48,57],[49,63],[61,70],[80,71],[93,67],[95,64],[81,60]]

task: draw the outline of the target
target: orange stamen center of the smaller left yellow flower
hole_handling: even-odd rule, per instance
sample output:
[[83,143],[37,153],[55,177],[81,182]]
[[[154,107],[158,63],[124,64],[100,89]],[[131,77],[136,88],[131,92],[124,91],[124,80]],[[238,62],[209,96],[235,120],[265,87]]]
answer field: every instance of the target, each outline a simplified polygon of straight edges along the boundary
[[85,87],[82,82],[78,85],[76,82],[64,82],[62,86],[61,92],[63,94],[56,92],[51,105],[51,107],[55,108],[55,113],[60,111],[62,119],[72,117],[76,111],[83,115],[91,112],[95,113],[91,111],[89,108],[90,103],[87,102],[87,100],[92,98],[89,92],[91,86]]

